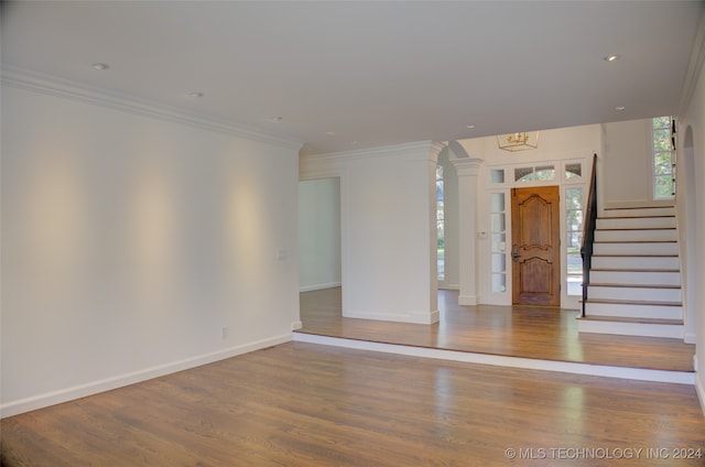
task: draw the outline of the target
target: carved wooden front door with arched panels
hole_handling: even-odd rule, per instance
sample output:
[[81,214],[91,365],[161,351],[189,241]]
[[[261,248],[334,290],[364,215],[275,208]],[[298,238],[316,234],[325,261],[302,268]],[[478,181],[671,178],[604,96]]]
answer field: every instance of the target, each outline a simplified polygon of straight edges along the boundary
[[561,305],[561,207],[557,186],[513,188],[512,303]]

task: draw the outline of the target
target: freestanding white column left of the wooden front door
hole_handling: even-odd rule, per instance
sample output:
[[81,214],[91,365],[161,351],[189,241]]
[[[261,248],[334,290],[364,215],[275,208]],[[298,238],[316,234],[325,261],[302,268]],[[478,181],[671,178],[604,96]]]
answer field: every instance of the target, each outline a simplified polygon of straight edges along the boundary
[[477,174],[481,159],[456,159],[458,174],[460,292],[459,305],[479,303],[477,287]]

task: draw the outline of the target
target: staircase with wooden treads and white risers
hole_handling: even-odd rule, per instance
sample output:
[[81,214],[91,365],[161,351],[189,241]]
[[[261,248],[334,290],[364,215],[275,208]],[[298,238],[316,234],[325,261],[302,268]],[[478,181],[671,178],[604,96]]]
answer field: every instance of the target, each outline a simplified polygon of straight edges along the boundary
[[683,338],[673,207],[606,209],[589,278],[581,333]]

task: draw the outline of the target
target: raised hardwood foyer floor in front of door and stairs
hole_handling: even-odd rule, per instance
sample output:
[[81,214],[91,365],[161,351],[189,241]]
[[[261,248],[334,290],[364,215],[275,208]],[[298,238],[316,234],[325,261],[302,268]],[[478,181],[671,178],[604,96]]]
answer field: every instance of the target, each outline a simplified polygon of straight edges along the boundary
[[542,360],[694,371],[695,346],[680,339],[579,334],[577,312],[541,307],[459,306],[440,291],[438,324],[340,316],[340,289],[301,294],[300,333]]

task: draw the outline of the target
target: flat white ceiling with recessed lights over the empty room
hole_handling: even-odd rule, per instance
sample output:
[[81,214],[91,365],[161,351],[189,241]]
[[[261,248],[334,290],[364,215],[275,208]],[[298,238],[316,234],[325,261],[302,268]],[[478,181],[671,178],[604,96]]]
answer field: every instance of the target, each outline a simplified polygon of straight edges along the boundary
[[676,115],[702,12],[699,1],[4,1],[2,66],[324,153]]

